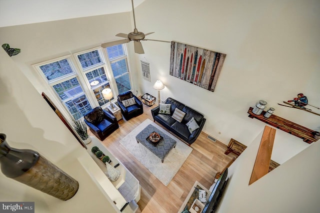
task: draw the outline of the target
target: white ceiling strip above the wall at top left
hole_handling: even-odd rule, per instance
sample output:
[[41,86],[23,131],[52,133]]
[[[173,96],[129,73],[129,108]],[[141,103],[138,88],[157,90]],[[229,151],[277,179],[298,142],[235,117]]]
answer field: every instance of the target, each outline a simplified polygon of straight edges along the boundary
[[131,0],[0,0],[0,27],[131,10]]

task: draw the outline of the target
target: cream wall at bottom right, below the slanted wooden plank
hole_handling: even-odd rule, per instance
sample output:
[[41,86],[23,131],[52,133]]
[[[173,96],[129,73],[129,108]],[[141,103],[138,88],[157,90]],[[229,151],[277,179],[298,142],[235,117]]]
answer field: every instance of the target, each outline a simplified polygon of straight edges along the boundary
[[320,143],[313,143],[248,186],[261,136],[262,132],[229,167],[229,182],[217,212],[319,212]]

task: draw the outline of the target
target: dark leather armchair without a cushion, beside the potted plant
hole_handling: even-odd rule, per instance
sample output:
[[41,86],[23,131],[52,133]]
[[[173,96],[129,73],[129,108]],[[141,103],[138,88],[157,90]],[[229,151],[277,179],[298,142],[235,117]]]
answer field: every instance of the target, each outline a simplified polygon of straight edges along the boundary
[[116,118],[101,107],[95,107],[84,115],[84,122],[100,141],[119,128]]

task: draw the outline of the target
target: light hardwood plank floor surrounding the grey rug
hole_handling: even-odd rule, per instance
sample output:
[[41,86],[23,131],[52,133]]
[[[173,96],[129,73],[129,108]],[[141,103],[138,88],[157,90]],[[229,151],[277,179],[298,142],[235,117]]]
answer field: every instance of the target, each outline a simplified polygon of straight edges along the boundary
[[[153,105],[155,106],[156,104]],[[194,182],[198,181],[209,189],[215,174],[221,171],[235,155],[232,153],[224,155],[226,145],[219,141],[212,142],[207,139],[207,134],[201,132],[191,145],[193,149],[191,154],[165,187],[119,143],[145,119],[153,121],[150,111],[153,107],[143,105],[142,115],[129,121],[118,121],[119,129],[102,143],[140,182],[141,199],[138,205],[142,213],[177,213]]]

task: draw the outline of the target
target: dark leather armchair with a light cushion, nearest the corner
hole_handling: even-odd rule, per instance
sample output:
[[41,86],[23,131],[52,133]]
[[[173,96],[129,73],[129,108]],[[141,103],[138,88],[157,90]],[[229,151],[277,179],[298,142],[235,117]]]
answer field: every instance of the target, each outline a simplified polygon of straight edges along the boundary
[[[128,99],[133,99],[135,103],[127,106],[125,101]],[[130,120],[131,118],[143,113],[142,102],[135,95],[133,95],[131,91],[127,91],[118,95],[118,105],[125,120]]]

